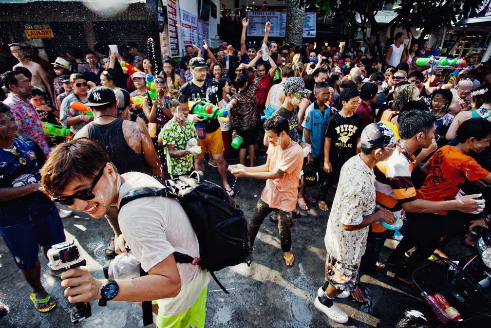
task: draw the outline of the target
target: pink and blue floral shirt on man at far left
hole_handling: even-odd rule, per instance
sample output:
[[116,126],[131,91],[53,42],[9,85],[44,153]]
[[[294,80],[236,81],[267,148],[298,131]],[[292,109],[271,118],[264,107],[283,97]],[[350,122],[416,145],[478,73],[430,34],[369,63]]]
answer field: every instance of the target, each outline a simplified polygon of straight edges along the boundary
[[9,93],[3,103],[10,107],[10,111],[15,118],[21,135],[24,138],[34,140],[44,154],[48,156],[51,149],[48,141],[46,141],[41,119],[36,109],[30,103],[23,101],[13,93]]

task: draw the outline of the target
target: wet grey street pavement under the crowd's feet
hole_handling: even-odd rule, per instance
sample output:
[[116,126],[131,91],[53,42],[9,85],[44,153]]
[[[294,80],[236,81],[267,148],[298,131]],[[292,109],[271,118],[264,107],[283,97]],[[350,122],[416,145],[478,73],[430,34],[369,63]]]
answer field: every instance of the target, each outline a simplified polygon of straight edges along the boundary
[[[228,175],[232,185],[235,178],[230,173]],[[208,165],[206,177],[214,182],[219,181],[217,171]],[[235,201],[246,213],[246,218],[252,215],[263,187],[264,181],[257,179],[239,178],[235,184]],[[329,194],[328,201],[332,201],[333,192]],[[307,193],[317,196],[316,190],[307,190]],[[324,234],[328,212],[320,211],[317,204],[309,203],[309,206],[308,211],[302,211],[299,219],[294,219],[292,227],[295,266],[287,268],[284,265],[277,227],[266,218],[254,245],[250,267],[240,264],[216,273],[230,294],[223,293],[215,281],[211,280],[206,303],[206,327],[388,328],[395,326],[403,317],[405,309],[421,305],[418,289],[395,285],[394,273],[385,269],[374,277],[361,278],[361,286],[369,299],[367,304],[361,305],[352,298],[335,301],[350,316],[346,325],[327,319],[314,307],[313,301],[317,289],[324,281]],[[83,256],[87,260],[86,268],[95,277],[103,278],[102,267],[106,262],[104,250],[112,230],[106,219],[88,219],[87,215],[80,212],[74,214],[63,219],[67,239],[76,238],[79,241],[85,251]],[[381,255],[382,263],[385,263],[391,249],[396,245],[396,241],[386,241]],[[461,247],[459,242],[453,242],[448,252],[450,255],[461,256],[470,251]],[[69,315],[72,304],[63,296],[60,279],[49,275],[47,261],[42,253],[39,258],[42,282],[58,304],[49,313],[39,313],[34,309],[29,301],[31,290],[1,239],[0,302],[10,309],[10,313],[0,319],[1,328],[72,327]],[[106,307],[99,307],[97,302],[92,302],[91,305],[92,317],[82,321],[77,327],[142,327],[141,309],[135,303],[109,302]]]

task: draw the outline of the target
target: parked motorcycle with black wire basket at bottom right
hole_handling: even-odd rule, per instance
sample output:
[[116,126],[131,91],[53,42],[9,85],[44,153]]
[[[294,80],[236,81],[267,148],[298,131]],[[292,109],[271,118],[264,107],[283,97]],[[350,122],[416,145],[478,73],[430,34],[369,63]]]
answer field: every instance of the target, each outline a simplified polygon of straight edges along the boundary
[[491,231],[474,231],[477,253],[459,261],[441,258],[414,270],[412,279],[427,306],[406,310],[396,328],[437,328],[491,316]]

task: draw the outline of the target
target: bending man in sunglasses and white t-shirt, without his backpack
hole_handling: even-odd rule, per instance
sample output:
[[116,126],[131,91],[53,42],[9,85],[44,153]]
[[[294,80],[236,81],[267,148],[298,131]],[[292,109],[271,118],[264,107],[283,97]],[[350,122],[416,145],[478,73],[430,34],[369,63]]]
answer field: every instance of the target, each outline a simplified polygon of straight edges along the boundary
[[[54,148],[42,170],[42,185],[55,202],[70,204],[93,218],[118,206],[129,192],[141,187],[163,185],[139,172],[117,173],[106,150],[87,138]],[[204,327],[206,271],[198,265],[174,260],[176,250],[199,257],[199,245],[186,212],[179,202],[167,197],[144,197],[119,208],[118,222],[133,254],[147,276],[121,279],[113,301],[157,300],[157,327]],[[101,300],[105,279],[93,278],[77,268],[61,275],[68,301]]]

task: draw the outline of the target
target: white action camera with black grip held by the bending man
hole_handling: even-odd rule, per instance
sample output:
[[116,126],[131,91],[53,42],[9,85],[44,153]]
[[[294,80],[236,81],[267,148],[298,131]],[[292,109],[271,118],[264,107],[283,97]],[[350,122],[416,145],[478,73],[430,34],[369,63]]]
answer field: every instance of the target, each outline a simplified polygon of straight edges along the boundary
[[[48,266],[54,271],[60,269],[67,271],[86,265],[85,259],[80,256],[79,247],[79,243],[75,240],[53,245],[46,254],[49,261]],[[72,320],[72,324],[75,325],[91,315],[90,303],[78,302],[72,307],[70,319]]]

